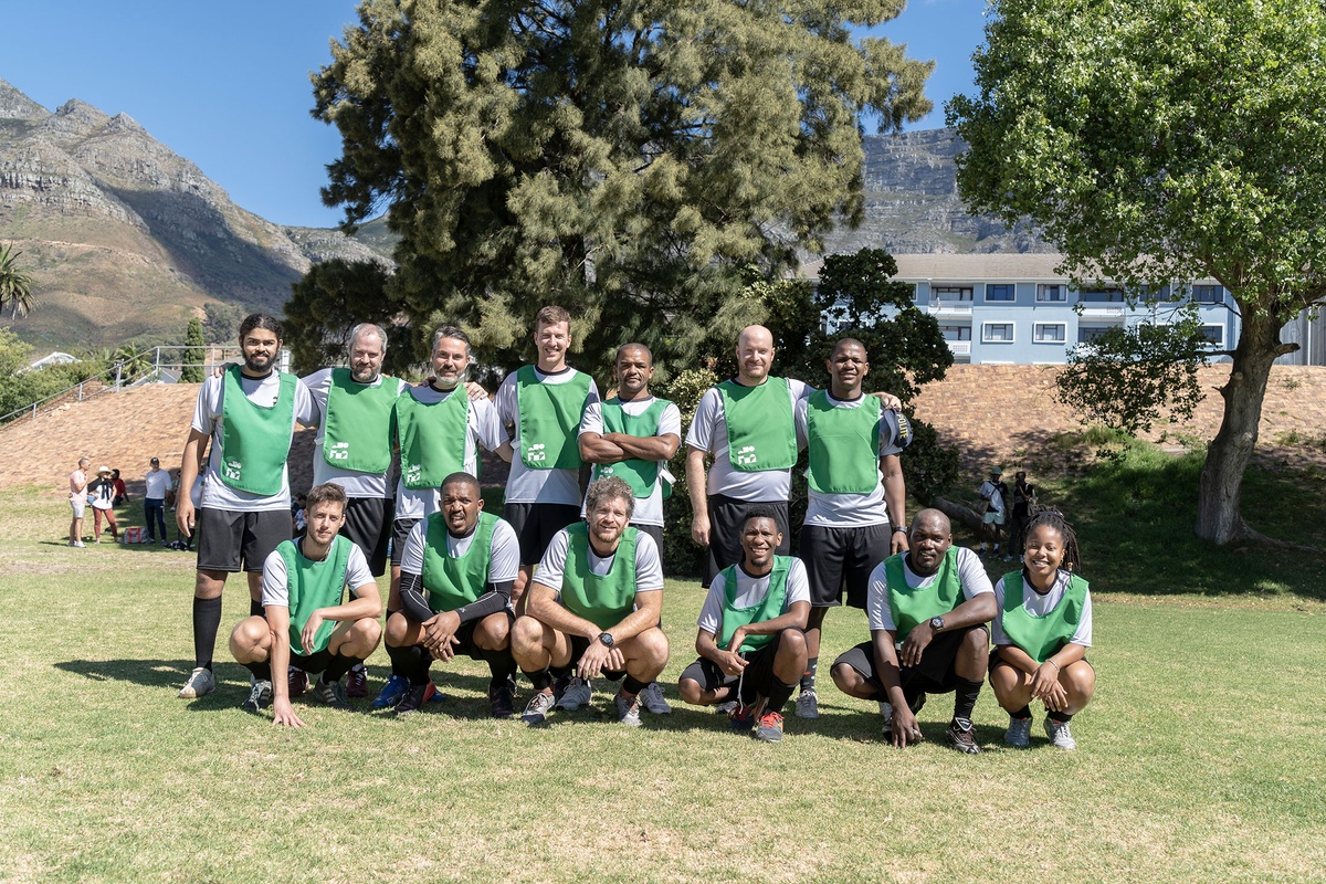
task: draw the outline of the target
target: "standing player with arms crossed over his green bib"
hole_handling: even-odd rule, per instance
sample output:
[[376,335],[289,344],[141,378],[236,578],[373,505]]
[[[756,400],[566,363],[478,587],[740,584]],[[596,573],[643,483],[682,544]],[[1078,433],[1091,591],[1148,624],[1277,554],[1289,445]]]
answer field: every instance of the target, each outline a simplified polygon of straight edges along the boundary
[[[650,392],[654,355],[643,343],[617,350],[613,366],[617,396],[585,408],[579,428],[581,457],[594,464],[593,480],[619,476],[635,494],[631,525],[654,538],[663,550],[663,497],[672,490],[667,461],[682,445],[682,412]],[[672,708],[656,681],[640,692],[640,702],[654,714]]]

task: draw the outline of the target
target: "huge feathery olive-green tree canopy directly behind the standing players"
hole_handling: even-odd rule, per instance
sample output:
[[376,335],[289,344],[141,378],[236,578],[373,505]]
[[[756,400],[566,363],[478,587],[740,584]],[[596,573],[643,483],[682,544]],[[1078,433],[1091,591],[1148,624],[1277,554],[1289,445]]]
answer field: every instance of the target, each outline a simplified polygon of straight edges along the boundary
[[[314,81],[338,127],[329,205],[387,209],[394,297],[528,353],[545,304],[594,364],[623,339],[688,364],[743,288],[862,216],[862,119],[930,110],[931,65],[854,42],[898,0],[365,0]],[[419,338],[422,343],[422,337]]]

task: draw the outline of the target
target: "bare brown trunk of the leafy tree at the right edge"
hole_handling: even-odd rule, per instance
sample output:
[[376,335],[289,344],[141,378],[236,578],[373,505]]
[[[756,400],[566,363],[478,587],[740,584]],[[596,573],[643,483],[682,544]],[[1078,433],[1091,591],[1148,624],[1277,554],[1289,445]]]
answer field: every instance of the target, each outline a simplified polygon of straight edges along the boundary
[[1219,545],[1258,539],[1240,510],[1242,477],[1257,445],[1261,406],[1266,396],[1270,366],[1296,349],[1280,341],[1280,321],[1258,314],[1256,305],[1242,307],[1242,333],[1233,354],[1229,380],[1220,388],[1225,400],[1220,432],[1207,447],[1197,494],[1197,537]]

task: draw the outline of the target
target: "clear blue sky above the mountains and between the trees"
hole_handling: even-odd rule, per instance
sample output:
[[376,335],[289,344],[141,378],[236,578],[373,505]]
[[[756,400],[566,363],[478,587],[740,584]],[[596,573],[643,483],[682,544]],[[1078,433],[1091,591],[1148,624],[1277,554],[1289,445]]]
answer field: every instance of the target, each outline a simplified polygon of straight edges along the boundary
[[[334,129],[309,115],[309,72],[357,21],[353,0],[78,0],[9,4],[0,80],[54,110],[70,98],[125,113],[196,163],[243,208],[278,224],[333,227],[322,205]],[[936,60],[927,94],[943,103],[972,82],[984,0],[911,0],[873,33]]]

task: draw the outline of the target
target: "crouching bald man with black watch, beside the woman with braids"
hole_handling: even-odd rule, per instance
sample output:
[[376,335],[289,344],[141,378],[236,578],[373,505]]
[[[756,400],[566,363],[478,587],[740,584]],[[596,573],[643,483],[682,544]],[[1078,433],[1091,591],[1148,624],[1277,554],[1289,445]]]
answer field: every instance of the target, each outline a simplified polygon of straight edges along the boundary
[[997,612],[980,558],[953,546],[948,517],[923,509],[911,524],[911,551],[891,555],[870,575],[870,640],[833,664],[843,693],[878,700],[884,733],[899,747],[920,742],[916,712],[928,693],[953,692],[945,742],[980,753],[972,709],[989,664],[987,623]]

